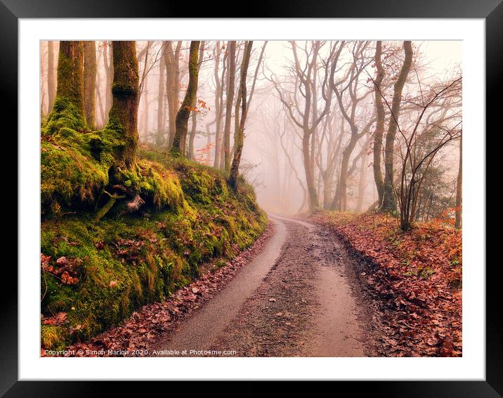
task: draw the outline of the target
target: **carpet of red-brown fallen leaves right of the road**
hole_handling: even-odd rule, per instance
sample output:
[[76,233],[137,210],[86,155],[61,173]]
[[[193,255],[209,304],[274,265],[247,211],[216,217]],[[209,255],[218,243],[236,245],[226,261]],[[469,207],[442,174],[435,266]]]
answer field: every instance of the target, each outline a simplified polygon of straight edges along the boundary
[[334,229],[374,270],[360,278],[380,303],[384,351],[404,357],[462,355],[462,233],[438,222],[398,229],[382,214],[327,213]]

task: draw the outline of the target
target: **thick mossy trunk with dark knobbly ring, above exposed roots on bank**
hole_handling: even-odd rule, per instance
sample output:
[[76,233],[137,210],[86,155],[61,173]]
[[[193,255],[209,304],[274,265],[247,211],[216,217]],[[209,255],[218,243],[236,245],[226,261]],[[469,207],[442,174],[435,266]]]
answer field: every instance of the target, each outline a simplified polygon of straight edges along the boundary
[[120,131],[124,146],[116,153],[116,167],[132,169],[138,143],[138,60],[134,41],[112,41],[114,82],[108,124]]

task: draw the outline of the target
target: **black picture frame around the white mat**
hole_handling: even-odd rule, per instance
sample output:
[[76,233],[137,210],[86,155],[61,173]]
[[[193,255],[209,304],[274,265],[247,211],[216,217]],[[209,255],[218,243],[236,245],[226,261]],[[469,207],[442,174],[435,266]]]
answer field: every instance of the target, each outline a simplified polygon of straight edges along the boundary
[[[0,0],[0,79],[4,91],[3,114],[13,121],[9,131],[17,131],[18,115],[18,19],[19,18],[194,18],[223,17],[223,6],[190,7],[181,1],[128,1],[114,0]],[[199,10],[199,11],[195,11]],[[243,11],[242,11],[243,12]],[[317,1],[254,1],[246,9],[247,18],[483,18],[486,40],[486,120],[487,125],[499,126],[496,118],[501,96],[503,70],[503,4],[502,0],[346,0],[338,3],[330,0]],[[199,15],[195,15],[199,13]],[[229,15],[235,18],[236,15]],[[467,99],[466,101],[469,101]],[[488,131],[490,131],[488,129]],[[494,131],[494,130],[493,130]],[[499,131],[499,129],[498,129]],[[485,134],[484,131],[481,134]],[[11,134],[11,139],[13,134]],[[17,147],[14,141],[13,146]],[[13,186],[15,186],[15,182]],[[11,190],[12,192],[13,190]],[[10,194],[12,195],[12,193]],[[18,208],[12,195],[9,208]],[[22,209],[18,209],[18,212]],[[18,213],[19,214],[19,213]],[[22,237],[19,237],[20,239]],[[485,257],[485,254],[484,254]],[[479,266],[480,264],[472,264]],[[372,397],[502,397],[503,349],[502,320],[499,305],[502,303],[501,279],[498,278],[499,262],[486,267],[486,378],[485,381],[355,381],[341,387],[351,388],[358,395]],[[109,382],[28,382],[18,381],[18,274],[14,267],[3,267],[3,280],[13,287],[0,289],[0,395],[5,397],[93,397],[107,393],[112,388],[115,395],[144,394],[145,383]],[[389,376],[391,379],[393,375]],[[58,375],[54,375],[57,379]],[[225,375],[222,375],[225,379]],[[265,382],[247,382],[238,387],[220,387],[196,384],[190,394],[207,394],[209,389],[240,395],[256,395],[268,389]],[[295,383],[294,383],[295,384]],[[112,386],[112,387],[111,387]],[[169,393],[176,394],[181,384],[170,382]],[[326,388],[327,386],[320,386]],[[150,387],[149,387],[150,388]],[[165,388],[165,387],[162,387]],[[299,389],[294,385],[295,390]],[[311,393],[318,385],[308,386]],[[314,388],[314,390],[313,390]],[[333,388],[333,387],[332,387]],[[165,390],[166,393],[168,390]],[[341,390],[342,391],[342,390]]]

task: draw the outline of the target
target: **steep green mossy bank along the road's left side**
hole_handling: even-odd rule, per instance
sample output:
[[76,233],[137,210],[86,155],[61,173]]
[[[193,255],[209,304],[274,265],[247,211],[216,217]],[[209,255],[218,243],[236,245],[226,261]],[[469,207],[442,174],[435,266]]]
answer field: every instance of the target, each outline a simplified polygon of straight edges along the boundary
[[136,169],[122,173],[145,199],[142,210],[112,209],[95,221],[113,137],[66,128],[45,139],[43,131],[42,141],[46,349],[91,338],[163,300],[197,278],[202,264],[224,264],[265,229],[266,214],[244,181],[234,191],[222,172],[146,148]]

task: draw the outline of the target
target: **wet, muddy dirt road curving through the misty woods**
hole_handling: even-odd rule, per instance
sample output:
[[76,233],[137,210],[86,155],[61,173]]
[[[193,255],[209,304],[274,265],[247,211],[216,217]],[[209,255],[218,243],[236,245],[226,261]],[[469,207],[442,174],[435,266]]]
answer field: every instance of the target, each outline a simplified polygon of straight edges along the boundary
[[[373,355],[369,303],[353,261],[318,226],[270,216],[275,234],[212,300],[151,345],[171,356],[365,357]],[[166,354],[166,350],[169,354]],[[219,352],[219,353],[216,353]],[[181,355],[181,354],[180,354]]]

